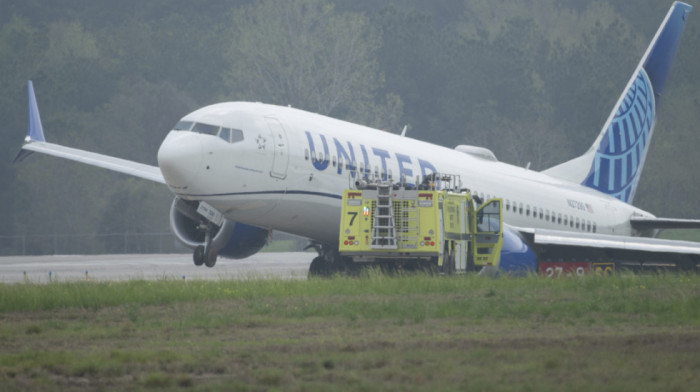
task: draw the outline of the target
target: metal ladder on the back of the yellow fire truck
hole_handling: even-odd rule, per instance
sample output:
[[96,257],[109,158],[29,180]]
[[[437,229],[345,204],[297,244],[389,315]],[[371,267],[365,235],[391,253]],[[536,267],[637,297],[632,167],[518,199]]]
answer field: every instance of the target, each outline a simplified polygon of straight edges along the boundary
[[372,241],[370,249],[397,249],[396,219],[392,200],[392,184],[390,181],[377,183],[377,199],[374,209],[374,224],[372,225]]

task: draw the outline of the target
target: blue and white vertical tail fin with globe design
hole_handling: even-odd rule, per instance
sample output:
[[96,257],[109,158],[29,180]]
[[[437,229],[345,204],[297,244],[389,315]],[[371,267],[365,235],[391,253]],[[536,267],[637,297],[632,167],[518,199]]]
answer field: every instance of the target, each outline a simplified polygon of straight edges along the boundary
[[654,131],[659,97],[691,9],[688,4],[673,3],[591,148],[545,174],[632,202]]

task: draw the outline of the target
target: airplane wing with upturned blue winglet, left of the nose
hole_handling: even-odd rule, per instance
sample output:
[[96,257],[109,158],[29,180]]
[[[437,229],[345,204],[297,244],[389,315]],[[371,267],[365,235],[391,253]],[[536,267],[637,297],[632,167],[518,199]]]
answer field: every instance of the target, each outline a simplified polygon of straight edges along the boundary
[[97,154],[94,152],[46,142],[46,138],[44,137],[44,129],[41,125],[39,107],[36,103],[36,96],[34,95],[34,86],[31,80],[28,82],[28,90],[29,131],[27,132],[27,137],[25,138],[25,143],[22,146],[22,149],[15,158],[15,162],[22,161],[32,152],[39,152],[42,154],[65,158],[91,166],[97,166],[165,184],[163,174],[157,166],[146,165],[143,163],[128,161],[126,159],[115,158],[109,155]]

